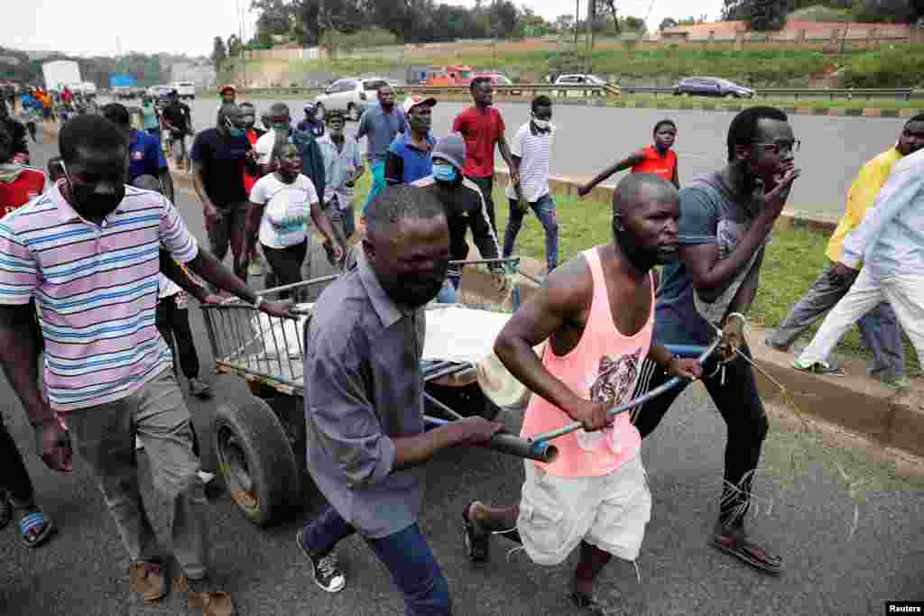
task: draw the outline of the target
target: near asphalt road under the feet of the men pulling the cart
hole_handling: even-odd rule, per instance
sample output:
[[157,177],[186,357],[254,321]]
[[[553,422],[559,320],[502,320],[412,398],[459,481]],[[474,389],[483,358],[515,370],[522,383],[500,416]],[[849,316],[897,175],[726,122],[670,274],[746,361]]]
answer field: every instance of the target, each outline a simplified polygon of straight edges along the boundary
[[[38,147],[35,162],[50,155]],[[201,209],[180,191],[177,205],[204,239]],[[315,260],[317,262],[317,260]],[[322,268],[314,270],[322,273]],[[192,310],[193,331],[203,366],[212,357],[201,316]],[[242,382],[216,377],[216,399],[189,405],[203,442],[215,406],[246,395]],[[128,591],[128,562],[100,493],[79,460],[72,476],[55,475],[34,454],[30,428],[15,394],[0,380],[0,406],[58,534],[38,550],[20,545],[12,527],[0,535],[0,613],[194,614],[172,593],[158,607],[144,607]],[[521,417],[506,417],[516,429]],[[881,614],[886,600],[924,600],[924,502],[921,484],[870,470],[864,450],[845,450],[843,468],[869,478],[861,490],[857,530],[850,537],[854,504],[819,447],[774,423],[756,480],[759,509],[751,525],[756,537],[784,554],[786,571],[770,578],[707,546],[717,511],[723,464],[723,422],[699,390],[686,393],[645,442],[643,456],[654,497],[652,519],[638,560],[641,584],[625,562],[602,573],[598,592],[609,614]],[[211,451],[206,467],[214,467]],[[163,533],[167,512],[152,493],[147,463],[140,464],[144,494]],[[788,470],[787,470],[788,469]],[[2,472],[2,471],[0,471]],[[429,482],[421,525],[449,579],[456,613],[466,616],[533,616],[584,613],[566,598],[575,557],[555,567],[529,562],[522,552],[495,541],[492,563],[468,567],[460,545],[459,513],[472,499],[517,499],[523,477],[517,460],[479,449],[458,449],[428,466]],[[795,480],[787,479],[790,472]],[[328,595],[310,581],[294,543],[298,520],[321,504],[312,493],[304,511],[281,525],[259,529],[240,515],[220,489],[210,490],[213,571],[230,590],[241,614],[329,614],[378,616],[404,613],[387,571],[357,537],[340,547],[348,586]]]

